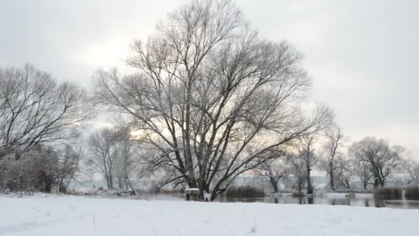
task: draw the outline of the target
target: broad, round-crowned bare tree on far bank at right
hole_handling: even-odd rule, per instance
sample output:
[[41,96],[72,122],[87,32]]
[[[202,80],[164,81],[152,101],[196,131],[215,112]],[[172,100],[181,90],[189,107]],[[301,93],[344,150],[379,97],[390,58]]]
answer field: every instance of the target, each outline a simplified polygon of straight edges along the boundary
[[389,146],[384,139],[365,137],[349,147],[349,154],[360,161],[365,171],[371,173],[376,188],[384,187],[387,177],[400,167],[405,148]]

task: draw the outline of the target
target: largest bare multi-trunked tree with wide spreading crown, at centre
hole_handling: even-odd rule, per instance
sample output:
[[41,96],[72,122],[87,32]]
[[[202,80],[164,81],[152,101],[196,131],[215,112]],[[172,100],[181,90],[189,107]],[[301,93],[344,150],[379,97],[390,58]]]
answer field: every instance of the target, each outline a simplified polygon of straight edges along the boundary
[[[316,132],[331,112],[308,119],[311,83],[289,43],[262,39],[232,1],[190,1],[167,14],[127,63],[136,73],[99,70],[96,101],[123,112],[171,168],[176,184],[211,193]],[[155,152],[155,153],[156,153]]]

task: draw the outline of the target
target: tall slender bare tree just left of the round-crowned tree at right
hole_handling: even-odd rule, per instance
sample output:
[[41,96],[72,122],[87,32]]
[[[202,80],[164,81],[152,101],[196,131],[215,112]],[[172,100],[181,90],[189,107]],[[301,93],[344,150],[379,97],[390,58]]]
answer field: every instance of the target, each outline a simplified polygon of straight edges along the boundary
[[[327,142],[323,146],[325,150],[325,157],[320,160],[320,168],[325,170],[327,175],[329,175],[329,186],[331,190],[335,190],[336,170],[337,168],[340,168],[340,170],[343,171],[344,168],[343,166],[338,166],[338,160],[336,160],[336,157],[341,155],[340,148],[342,148],[343,144],[345,144],[345,140],[343,139],[340,127],[336,127],[334,130],[326,132],[326,137]],[[340,164],[343,163],[340,162]]]

